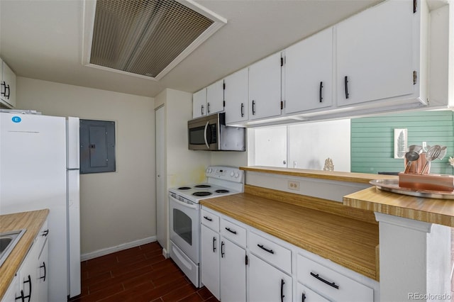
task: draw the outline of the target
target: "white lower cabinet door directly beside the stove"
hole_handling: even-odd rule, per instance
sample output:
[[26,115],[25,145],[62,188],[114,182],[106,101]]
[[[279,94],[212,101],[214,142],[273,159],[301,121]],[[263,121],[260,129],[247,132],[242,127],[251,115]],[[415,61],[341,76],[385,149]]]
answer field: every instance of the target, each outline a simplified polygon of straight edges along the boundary
[[205,225],[201,225],[200,278],[201,283],[219,300],[219,234]]

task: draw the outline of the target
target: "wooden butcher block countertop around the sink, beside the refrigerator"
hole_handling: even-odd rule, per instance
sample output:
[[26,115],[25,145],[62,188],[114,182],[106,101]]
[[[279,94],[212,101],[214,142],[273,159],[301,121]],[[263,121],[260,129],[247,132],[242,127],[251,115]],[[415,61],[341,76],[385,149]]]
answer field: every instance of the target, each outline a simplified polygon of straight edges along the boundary
[[9,257],[6,258],[0,267],[0,299],[4,296],[9,284],[11,284],[14,274],[21,267],[23,259],[26,257],[33,240],[48,217],[48,213],[49,210],[45,209],[0,216],[0,233],[26,229],[21,240],[18,241],[16,247],[14,247]]

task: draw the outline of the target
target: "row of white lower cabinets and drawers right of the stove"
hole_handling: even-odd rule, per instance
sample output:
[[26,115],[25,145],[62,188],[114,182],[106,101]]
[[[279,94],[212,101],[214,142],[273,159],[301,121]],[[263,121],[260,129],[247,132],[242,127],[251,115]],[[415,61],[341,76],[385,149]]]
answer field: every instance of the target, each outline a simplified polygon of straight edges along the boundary
[[201,281],[222,302],[372,302],[380,284],[205,207]]

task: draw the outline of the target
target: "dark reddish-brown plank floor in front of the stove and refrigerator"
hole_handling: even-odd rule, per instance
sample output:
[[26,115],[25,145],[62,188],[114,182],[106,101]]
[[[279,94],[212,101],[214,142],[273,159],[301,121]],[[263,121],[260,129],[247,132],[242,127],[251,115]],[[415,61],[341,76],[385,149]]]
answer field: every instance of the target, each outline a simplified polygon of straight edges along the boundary
[[197,289],[157,242],[81,263],[82,293],[70,302],[218,301],[205,287]]

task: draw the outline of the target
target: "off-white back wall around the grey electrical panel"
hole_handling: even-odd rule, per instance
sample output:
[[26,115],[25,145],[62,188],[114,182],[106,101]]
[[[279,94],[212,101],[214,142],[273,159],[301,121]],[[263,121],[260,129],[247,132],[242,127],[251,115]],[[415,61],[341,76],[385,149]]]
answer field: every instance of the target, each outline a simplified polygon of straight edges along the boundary
[[82,257],[155,237],[153,103],[143,96],[17,78],[16,108],[116,123],[116,172],[80,177]]

